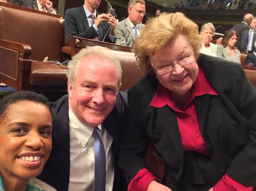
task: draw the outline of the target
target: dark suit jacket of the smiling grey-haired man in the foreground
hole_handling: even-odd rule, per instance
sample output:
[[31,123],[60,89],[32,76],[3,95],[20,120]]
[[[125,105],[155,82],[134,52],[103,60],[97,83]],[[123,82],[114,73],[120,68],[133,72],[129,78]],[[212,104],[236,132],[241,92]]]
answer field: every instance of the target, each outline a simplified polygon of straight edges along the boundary
[[[121,121],[126,117],[125,113],[127,107],[127,92],[118,93],[113,111],[111,111],[102,124],[113,138],[111,147],[113,149],[114,158],[116,158],[120,142],[119,134]],[[58,191],[68,191],[70,175],[68,95],[63,96],[54,103],[52,106],[52,115],[52,151],[38,178],[47,182]],[[127,188],[127,184],[118,167],[116,159],[114,163],[115,177],[113,190],[123,191]]]

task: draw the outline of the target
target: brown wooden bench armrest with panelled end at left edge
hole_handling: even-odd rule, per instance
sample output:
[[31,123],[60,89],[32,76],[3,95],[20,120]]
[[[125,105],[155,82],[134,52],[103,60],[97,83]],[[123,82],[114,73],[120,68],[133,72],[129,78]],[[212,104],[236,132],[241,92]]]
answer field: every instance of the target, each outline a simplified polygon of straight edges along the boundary
[[17,91],[28,90],[32,63],[30,55],[28,44],[0,39],[0,82]]

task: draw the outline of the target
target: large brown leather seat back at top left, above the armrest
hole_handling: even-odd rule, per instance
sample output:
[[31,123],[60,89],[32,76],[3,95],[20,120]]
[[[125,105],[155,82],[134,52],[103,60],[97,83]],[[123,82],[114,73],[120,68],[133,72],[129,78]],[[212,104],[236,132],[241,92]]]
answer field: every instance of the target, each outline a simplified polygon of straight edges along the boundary
[[62,61],[64,19],[42,11],[0,3],[0,39],[29,44],[31,59]]

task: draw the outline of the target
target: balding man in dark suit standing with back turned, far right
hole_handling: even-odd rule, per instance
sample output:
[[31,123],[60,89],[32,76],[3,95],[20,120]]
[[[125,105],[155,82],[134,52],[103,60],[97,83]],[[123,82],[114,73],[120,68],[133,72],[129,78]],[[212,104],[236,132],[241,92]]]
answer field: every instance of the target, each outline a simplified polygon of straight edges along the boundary
[[248,13],[243,17],[241,23],[232,27],[232,29],[234,29],[239,34],[239,38],[235,44],[235,47],[237,47],[237,49],[241,52],[247,51],[248,35],[250,29],[249,25],[251,24],[252,19],[253,15]]

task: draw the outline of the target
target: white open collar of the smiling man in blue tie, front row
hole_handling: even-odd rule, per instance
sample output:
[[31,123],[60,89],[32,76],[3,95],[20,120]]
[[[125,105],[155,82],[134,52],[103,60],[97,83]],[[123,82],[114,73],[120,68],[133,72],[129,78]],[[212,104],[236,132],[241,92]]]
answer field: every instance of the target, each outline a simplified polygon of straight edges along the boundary
[[[69,129],[75,134],[80,144],[84,147],[87,144],[89,138],[93,134],[93,128],[88,127],[83,124],[77,116],[73,113],[70,105],[68,105],[68,117],[69,117]],[[97,126],[101,131],[104,131],[104,128],[101,128],[101,124]],[[101,132],[103,135],[104,132]]]

